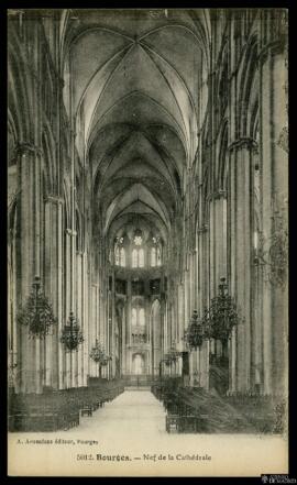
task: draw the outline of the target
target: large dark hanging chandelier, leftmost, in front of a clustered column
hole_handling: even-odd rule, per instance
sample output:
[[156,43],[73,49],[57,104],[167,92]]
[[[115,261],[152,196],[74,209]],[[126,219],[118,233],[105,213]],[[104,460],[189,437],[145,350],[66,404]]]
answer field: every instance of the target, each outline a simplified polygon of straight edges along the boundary
[[51,328],[57,323],[52,307],[42,290],[38,276],[35,276],[31,295],[18,315],[18,322],[28,327],[29,335],[33,339],[44,339]]

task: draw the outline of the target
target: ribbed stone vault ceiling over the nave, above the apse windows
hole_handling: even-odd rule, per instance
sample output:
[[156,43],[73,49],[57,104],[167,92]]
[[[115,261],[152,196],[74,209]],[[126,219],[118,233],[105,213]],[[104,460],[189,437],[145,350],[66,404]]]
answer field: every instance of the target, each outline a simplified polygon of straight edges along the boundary
[[187,11],[76,15],[67,40],[73,112],[105,231],[141,216],[166,239],[197,148],[201,31]]

